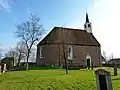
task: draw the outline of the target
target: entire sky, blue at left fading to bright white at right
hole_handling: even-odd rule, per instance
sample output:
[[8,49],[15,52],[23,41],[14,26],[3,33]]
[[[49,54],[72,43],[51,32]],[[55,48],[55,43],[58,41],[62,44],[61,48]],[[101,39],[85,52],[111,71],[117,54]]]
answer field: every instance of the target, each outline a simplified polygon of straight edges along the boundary
[[2,52],[16,45],[15,26],[30,13],[40,17],[47,34],[54,26],[84,29],[86,11],[101,51],[108,57],[120,57],[120,0],[0,0]]

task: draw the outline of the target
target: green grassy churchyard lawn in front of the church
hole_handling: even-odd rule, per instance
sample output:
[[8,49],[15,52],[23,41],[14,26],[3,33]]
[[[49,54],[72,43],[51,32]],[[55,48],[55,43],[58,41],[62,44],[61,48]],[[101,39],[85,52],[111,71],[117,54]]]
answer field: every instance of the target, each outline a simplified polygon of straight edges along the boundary
[[[0,90],[96,90],[94,71],[98,68],[69,70],[69,74],[64,69],[33,69],[0,74]],[[113,90],[120,90],[120,69],[118,76],[113,76],[113,68],[104,69],[112,74]]]

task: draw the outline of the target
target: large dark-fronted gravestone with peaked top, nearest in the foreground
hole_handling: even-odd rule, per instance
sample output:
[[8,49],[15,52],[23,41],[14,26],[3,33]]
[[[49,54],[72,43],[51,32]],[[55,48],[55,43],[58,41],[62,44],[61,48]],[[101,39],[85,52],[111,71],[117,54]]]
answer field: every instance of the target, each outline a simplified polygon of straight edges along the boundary
[[95,71],[97,90],[113,90],[111,82],[111,74],[104,69]]

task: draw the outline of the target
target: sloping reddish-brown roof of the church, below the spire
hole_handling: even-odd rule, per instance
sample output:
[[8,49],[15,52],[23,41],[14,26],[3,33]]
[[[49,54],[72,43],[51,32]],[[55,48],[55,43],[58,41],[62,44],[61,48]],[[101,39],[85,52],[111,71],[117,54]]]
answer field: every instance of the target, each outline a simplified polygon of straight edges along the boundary
[[54,27],[46,37],[38,43],[43,44],[64,44],[82,45],[82,46],[100,46],[99,42],[86,30]]

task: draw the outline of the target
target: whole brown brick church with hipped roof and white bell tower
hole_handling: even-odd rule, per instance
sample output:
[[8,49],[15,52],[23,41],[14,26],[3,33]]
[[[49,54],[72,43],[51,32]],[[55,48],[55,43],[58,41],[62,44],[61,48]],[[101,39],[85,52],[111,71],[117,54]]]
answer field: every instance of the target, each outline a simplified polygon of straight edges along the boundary
[[101,65],[101,46],[92,33],[87,13],[84,30],[54,27],[37,45],[36,64],[64,65],[63,46],[68,64]]

